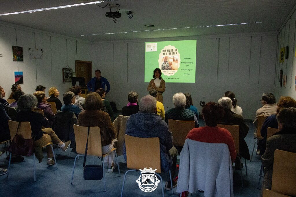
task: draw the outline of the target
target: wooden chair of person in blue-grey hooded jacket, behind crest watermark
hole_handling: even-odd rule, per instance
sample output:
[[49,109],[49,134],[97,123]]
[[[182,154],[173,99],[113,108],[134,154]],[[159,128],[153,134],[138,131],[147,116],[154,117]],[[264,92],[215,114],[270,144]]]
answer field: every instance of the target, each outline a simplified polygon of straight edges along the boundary
[[[162,193],[164,196],[163,190],[163,179],[158,173],[161,173],[161,165],[160,165],[160,144],[159,138],[139,138],[133,137],[129,135],[125,135],[125,143],[126,143],[126,165],[129,169],[124,174],[121,196],[123,194],[124,182],[126,180],[126,174],[130,171],[136,171],[144,168],[152,168],[156,169],[156,175],[161,180],[162,185]],[[170,183],[173,191],[173,181],[171,172],[170,173]]]

